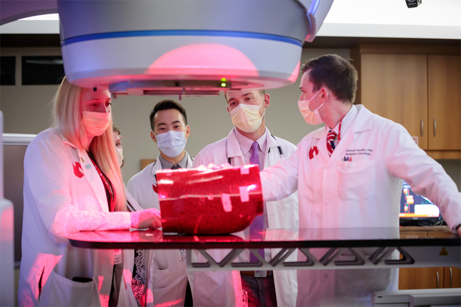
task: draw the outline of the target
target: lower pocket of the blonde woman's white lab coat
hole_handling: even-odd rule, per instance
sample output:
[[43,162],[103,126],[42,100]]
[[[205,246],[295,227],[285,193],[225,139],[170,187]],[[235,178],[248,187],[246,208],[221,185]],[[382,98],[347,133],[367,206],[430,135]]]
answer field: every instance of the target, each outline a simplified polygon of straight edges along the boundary
[[94,280],[78,282],[51,272],[40,294],[39,306],[100,306]]

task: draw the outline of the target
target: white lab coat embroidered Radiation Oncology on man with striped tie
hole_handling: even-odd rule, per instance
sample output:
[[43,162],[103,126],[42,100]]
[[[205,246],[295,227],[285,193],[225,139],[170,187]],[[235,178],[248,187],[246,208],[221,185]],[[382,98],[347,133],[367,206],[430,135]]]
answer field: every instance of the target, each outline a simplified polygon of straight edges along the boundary
[[[398,227],[405,179],[415,193],[439,206],[454,231],[461,223],[461,195],[442,166],[414,143],[402,125],[363,105],[357,108],[357,117],[341,134],[331,157],[327,128],[320,128],[303,138],[289,159],[264,169],[264,198],[281,199],[298,189],[300,228]],[[352,161],[343,161],[345,157]],[[371,305],[371,293],[396,289],[397,278],[397,270],[390,269],[299,270],[302,295],[297,305]]]

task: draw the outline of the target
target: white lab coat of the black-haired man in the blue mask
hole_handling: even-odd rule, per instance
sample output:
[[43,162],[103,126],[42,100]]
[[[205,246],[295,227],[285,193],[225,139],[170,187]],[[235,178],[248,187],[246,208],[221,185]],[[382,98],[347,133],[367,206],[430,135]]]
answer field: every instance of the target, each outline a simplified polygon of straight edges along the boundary
[[[187,155],[187,168],[192,167],[192,159]],[[159,160],[149,164],[135,174],[127,184],[128,191],[143,209],[155,208],[160,210],[155,173],[161,170]],[[180,260],[179,250],[150,250],[146,254],[146,282],[153,292],[153,302],[148,306],[168,304],[169,306],[183,306],[187,280],[193,291],[193,275],[187,272],[185,260]],[[193,297],[195,304],[195,296]]]

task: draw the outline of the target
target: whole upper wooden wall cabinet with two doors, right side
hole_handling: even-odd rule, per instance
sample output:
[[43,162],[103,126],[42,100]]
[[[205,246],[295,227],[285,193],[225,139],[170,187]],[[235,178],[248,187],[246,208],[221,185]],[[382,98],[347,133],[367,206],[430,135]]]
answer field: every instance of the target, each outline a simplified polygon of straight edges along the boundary
[[461,158],[458,47],[360,45],[355,103],[402,124],[435,159]]

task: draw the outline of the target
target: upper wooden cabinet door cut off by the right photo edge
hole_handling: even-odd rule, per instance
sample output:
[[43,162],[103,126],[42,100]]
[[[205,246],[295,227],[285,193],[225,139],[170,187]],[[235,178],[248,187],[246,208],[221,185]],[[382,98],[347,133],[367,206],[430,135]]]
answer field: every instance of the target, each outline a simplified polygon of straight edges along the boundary
[[461,149],[459,55],[428,55],[428,149]]

